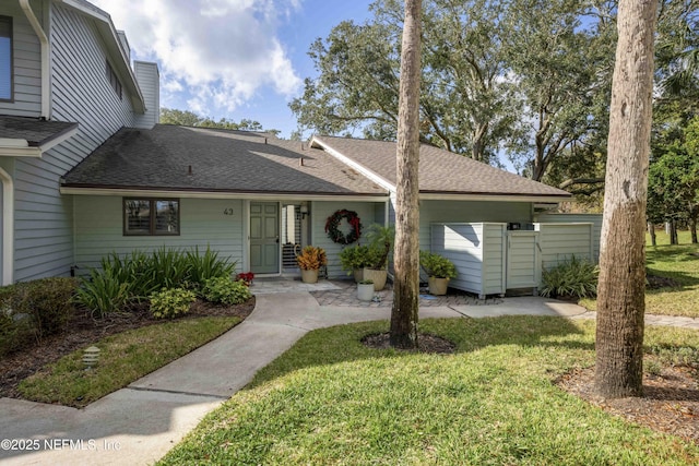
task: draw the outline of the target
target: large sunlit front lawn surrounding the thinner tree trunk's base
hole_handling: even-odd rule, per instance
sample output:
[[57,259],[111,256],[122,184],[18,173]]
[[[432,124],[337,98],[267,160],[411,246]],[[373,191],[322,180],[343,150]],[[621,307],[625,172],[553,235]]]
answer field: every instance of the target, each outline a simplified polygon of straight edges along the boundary
[[[450,356],[369,349],[387,323],[309,333],[163,458],[175,464],[683,465],[699,449],[605,414],[553,381],[594,361],[594,324],[426,320]],[[647,343],[699,347],[648,328]]]

